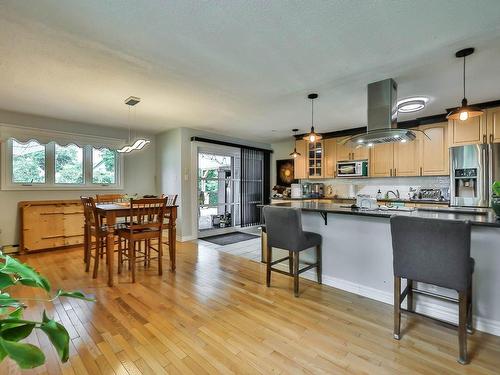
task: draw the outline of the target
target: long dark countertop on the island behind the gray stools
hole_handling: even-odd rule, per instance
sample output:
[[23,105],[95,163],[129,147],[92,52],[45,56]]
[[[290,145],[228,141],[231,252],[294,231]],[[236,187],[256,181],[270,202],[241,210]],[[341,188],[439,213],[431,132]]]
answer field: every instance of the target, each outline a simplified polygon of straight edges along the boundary
[[414,211],[377,211],[377,210],[360,210],[351,209],[345,207],[342,204],[334,203],[321,203],[321,202],[286,202],[286,203],[275,203],[272,206],[280,207],[294,207],[300,208],[307,212],[321,212],[321,213],[333,213],[333,214],[344,214],[344,215],[358,215],[358,216],[371,216],[371,217],[382,217],[389,218],[392,215],[406,215],[413,217],[422,217],[428,219],[444,219],[444,220],[469,220],[473,225],[481,226],[491,226],[500,228],[500,219],[497,219],[493,210],[485,209],[486,214],[474,214],[474,213],[455,213],[446,212],[449,208],[436,208],[434,210],[423,210],[415,209]]

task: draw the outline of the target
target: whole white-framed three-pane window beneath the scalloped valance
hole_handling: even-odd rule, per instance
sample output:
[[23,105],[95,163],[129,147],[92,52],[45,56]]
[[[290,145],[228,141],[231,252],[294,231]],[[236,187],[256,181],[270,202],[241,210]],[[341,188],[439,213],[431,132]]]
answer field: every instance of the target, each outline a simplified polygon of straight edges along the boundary
[[8,139],[2,147],[2,189],[122,188],[120,154],[111,148],[65,142]]

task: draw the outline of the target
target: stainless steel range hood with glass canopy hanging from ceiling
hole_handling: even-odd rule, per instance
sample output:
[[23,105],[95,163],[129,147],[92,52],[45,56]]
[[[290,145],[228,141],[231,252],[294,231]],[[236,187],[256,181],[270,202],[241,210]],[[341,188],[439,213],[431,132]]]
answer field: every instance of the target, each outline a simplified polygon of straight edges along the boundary
[[368,126],[365,134],[348,138],[343,143],[357,147],[380,143],[411,142],[416,138],[413,131],[398,129],[398,84],[392,78],[368,85]]

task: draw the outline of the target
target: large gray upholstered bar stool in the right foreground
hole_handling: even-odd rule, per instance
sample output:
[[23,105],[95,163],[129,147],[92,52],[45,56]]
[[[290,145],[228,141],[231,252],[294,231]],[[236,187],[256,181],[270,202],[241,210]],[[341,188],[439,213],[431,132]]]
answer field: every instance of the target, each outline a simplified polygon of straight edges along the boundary
[[[413,293],[431,297],[443,296],[415,289],[414,282],[422,282],[456,290],[458,299],[458,362],[466,364],[467,331],[472,333],[472,273],[474,259],[470,257],[470,223],[391,217],[392,250],[394,262],[394,338],[400,339],[401,311],[414,312]],[[401,293],[401,278],[407,286]],[[401,303],[407,300],[407,310]]]

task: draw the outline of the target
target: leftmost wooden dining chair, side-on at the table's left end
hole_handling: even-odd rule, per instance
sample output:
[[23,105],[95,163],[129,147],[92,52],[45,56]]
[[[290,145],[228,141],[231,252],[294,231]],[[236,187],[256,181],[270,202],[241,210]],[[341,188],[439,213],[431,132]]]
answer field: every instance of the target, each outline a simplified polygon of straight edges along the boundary
[[[92,278],[97,277],[99,269],[99,258],[103,258],[104,250],[106,248],[106,226],[102,224],[99,215],[97,214],[95,200],[92,197],[80,197],[83,204],[83,213],[85,217],[84,227],[84,258],[85,258],[85,272],[90,270],[91,258],[94,258],[94,270]],[[92,241],[95,238],[95,242]],[[92,250],[95,250],[92,254]]]

